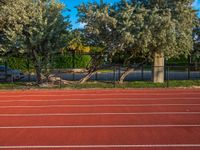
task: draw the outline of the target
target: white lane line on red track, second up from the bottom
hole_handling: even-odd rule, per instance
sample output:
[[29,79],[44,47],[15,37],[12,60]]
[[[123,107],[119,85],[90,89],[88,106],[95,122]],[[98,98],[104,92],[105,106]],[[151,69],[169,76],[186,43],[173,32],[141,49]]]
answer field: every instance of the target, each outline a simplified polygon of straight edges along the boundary
[[74,125],[74,126],[0,126],[0,129],[68,129],[68,128],[173,128],[200,125]]

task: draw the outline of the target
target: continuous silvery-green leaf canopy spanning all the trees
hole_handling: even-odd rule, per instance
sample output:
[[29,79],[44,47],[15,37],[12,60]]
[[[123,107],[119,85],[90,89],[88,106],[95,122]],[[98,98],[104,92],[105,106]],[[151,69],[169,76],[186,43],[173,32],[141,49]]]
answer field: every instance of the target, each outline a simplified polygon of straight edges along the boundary
[[155,62],[155,56],[163,60],[187,57],[199,49],[199,22],[195,26],[192,3],[193,0],[82,3],[77,7],[78,17],[85,26],[69,31],[69,16],[63,16],[64,6],[56,0],[0,0],[0,54],[30,59],[38,83],[42,68],[62,50],[95,52],[89,76],[105,58],[112,62],[116,55],[122,58],[127,71],[136,59],[143,63]]

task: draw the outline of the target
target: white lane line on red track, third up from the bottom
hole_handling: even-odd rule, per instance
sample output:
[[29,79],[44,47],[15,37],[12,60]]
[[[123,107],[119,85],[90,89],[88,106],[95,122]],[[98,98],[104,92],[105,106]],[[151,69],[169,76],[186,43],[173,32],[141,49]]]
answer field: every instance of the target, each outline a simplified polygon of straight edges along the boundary
[[0,114],[0,117],[45,117],[45,116],[104,116],[104,115],[200,115],[200,112],[136,112],[136,113],[38,113]]

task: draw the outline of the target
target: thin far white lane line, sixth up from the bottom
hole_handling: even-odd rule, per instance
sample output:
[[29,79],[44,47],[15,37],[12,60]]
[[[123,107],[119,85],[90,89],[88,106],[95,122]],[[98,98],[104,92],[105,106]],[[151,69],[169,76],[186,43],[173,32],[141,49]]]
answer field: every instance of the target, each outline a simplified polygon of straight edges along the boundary
[[126,95],[126,96],[137,96],[137,95],[140,95],[140,96],[146,96],[146,95],[150,95],[150,96],[162,96],[162,95],[171,95],[171,96],[183,96],[183,95],[200,95],[200,93],[79,93],[79,94],[22,94],[22,95],[1,95],[0,98],[12,98],[12,97],[47,97],[47,96],[52,96],[52,97],[62,97],[62,96],[67,96],[67,97],[71,97],[71,96],[121,96],[121,95]]

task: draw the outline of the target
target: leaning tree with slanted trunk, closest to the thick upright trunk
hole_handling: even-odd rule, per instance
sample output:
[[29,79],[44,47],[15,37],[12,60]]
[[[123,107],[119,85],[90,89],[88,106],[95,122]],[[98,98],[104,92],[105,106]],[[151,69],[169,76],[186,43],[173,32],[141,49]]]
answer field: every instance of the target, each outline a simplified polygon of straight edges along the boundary
[[[123,83],[130,72],[139,68],[149,59],[147,48],[152,37],[146,25],[148,11],[141,4],[121,0],[113,8],[118,20],[117,29],[121,34],[120,39],[124,40],[123,49],[119,51],[119,54],[123,56],[124,65],[127,67],[120,77],[120,83]],[[141,63],[133,67],[132,63],[136,59],[140,59]]]

